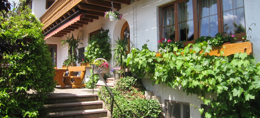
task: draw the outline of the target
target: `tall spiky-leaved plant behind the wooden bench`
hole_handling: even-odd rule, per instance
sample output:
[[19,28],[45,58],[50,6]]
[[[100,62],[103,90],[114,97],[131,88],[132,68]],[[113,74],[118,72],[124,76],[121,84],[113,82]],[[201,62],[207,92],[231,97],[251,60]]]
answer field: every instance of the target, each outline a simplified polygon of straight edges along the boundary
[[[66,36],[67,37],[67,36]],[[61,40],[61,44],[63,46],[65,46],[66,44],[69,45],[69,49],[68,49],[68,59],[69,63],[67,63],[67,65],[71,65],[71,66],[77,66],[76,65],[76,61],[78,61],[78,54],[77,51],[79,50],[79,45],[82,44],[81,38],[78,37],[75,39],[72,33],[72,36],[67,37],[66,40]],[[83,44],[82,44],[83,45]]]

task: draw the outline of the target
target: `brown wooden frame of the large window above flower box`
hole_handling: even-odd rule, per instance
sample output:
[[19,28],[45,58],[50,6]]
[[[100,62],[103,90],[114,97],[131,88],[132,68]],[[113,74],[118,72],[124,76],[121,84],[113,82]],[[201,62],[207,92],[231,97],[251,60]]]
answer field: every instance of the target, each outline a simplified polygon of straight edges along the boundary
[[[171,8],[174,7],[174,25],[175,25],[175,40],[178,39],[179,40],[179,16],[178,16],[178,3],[184,2],[187,0],[178,0],[178,1],[174,1],[171,2],[169,4],[163,5],[161,7],[159,7],[159,28],[160,28],[160,39],[164,38],[163,37],[163,23],[164,23],[164,9],[167,8]],[[197,4],[197,2],[201,2],[201,0],[190,0],[192,1],[193,4],[193,25],[194,25],[194,40],[192,41],[186,41],[184,42],[184,45],[187,45],[189,43],[193,43],[195,42],[195,39],[200,37],[200,4]],[[245,8],[245,6],[244,6]],[[218,32],[219,33],[223,33],[224,32],[224,26],[223,26],[223,12],[222,12],[222,0],[217,0],[217,17],[218,17]],[[245,33],[237,33],[235,34],[236,37],[238,37],[237,41],[243,41],[246,39],[242,40],[242,36],[246,35]]]

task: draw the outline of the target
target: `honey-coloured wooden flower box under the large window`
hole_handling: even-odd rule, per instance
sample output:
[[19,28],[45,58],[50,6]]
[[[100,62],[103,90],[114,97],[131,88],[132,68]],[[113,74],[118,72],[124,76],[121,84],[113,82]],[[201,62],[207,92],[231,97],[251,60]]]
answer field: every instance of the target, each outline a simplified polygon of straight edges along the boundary
[[[224,51],[224,56],[229,56],[235,53],[244,53],[246,52],[247,55],[253,55],[253,46],[250,42],[240,42],[240,43],[233,43],[233,44],[225,44],[218,47],[212,47],[209,55],[213,56],[220,56],[220,52]],[[156,53],[156,57],[161,56],[160,53]]]

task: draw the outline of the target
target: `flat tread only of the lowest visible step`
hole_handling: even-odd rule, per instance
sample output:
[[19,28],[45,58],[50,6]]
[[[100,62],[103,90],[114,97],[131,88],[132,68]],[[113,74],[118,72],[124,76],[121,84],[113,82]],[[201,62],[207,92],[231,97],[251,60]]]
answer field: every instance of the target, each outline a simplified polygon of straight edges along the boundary
[[95,114],[107,112],[105,109],[90,109],[90,110],[76,110],[76,111],[62,111],[49,113],[47,117],[60,117],[60,116],[73,116],[73,115],[82,115],[82,114]]

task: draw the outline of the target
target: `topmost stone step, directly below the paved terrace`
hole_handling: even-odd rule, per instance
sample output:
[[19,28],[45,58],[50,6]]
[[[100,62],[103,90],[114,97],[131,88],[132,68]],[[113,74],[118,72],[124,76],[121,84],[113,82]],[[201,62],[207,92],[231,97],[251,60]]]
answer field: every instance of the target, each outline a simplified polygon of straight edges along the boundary
[[45,104],[86,102],[98,100],[97,94],[50,94]]

